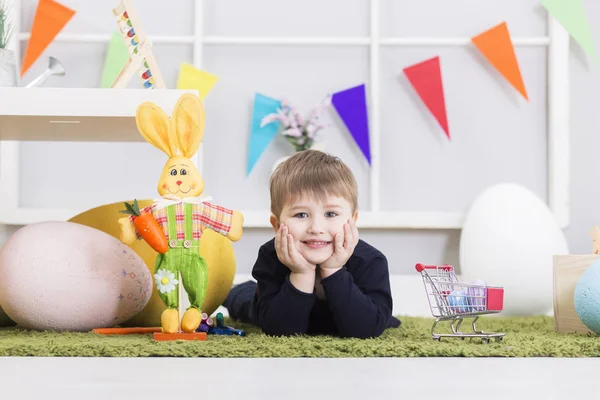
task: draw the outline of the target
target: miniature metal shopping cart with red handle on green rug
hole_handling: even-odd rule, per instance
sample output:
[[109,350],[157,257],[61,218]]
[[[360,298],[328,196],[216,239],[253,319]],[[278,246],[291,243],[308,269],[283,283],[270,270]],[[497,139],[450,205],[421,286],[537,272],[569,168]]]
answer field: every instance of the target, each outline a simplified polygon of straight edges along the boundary
[[[417,264],[416,269],[423,277],[429,307],[436,317],[431,327],[431,337],[434,340],[441,341],[442,337],[476,337],[488,343],[491,339],[502,340],[504,333],[479,331],[475,325],[481,315],[502,311],[502,287],[462,283],[456,277],[454,267],[448,264]],[[460,331],[464,318],[473,318],[473,332]],[[452,333],[436,333],[435,328],[440,321],[450,321]]]

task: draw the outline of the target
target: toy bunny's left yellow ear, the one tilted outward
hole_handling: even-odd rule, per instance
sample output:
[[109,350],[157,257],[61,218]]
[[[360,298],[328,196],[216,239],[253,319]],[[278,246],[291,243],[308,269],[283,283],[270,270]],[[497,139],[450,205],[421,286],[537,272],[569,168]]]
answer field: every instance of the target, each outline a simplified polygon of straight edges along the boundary
[[171,130],[169,116],[156,104],[144,102],[135,113],[138,130],[148,143],[169,157],[177,155],[177,138]]

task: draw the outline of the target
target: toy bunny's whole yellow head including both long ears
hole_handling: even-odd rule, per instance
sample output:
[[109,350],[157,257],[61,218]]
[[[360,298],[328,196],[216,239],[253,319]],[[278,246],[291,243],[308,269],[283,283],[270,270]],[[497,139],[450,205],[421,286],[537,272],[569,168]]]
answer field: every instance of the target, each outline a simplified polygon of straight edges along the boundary
[[136,111],[138,130],[148,143],[169,156],[158,181],[161,196],[199,196],[204,180],[190,160],[204,136],[204,107],[194,94],[182,95],[171,118],[156,104],[145,102]]

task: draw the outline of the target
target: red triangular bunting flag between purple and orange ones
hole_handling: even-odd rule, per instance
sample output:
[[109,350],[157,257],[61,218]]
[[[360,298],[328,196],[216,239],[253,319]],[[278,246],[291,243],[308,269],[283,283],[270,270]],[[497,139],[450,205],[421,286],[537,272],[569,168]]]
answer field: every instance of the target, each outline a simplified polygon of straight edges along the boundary
[[450,139],[440,57],[436,56],[406,67],[403,71],[421,100],[423,100],[423,103],[425,103],[438,121],[448,139]]

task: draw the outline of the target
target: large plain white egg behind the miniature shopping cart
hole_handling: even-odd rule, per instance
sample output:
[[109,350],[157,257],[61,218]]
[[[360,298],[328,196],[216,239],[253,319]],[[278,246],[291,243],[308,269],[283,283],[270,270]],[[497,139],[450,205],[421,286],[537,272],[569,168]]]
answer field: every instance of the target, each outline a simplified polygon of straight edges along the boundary
[[502,315],[545,315],[552,311],[556,254],[568,254],[568,245],[548,206],[520,185],[495,185],[477,196],[467,213],[461,280],[503,286]]

